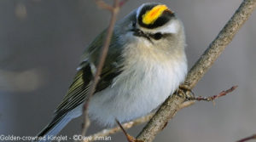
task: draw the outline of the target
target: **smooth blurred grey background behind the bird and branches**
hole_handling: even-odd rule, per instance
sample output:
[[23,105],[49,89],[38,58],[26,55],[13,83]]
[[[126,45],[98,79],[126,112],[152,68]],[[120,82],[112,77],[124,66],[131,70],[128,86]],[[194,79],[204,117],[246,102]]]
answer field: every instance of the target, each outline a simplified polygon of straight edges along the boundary
[[[112,0],[108,0],[111,3]],[[130,0],[119,19],[150,1]],[[218,35],[241,0],[161,0],[183,20],[189,67]],[[84,48],[108,26],[110,14],[90,0],[0,1],[0,133],[32,136],[51,120],[73,81]],[[233,93],[178,111],[154,141],[236,141],[256,133],[256,14],[198,83],[196,95]],[[81,131],[81,117],[61,134]],[[143,128],[128,132],[136,136]],[[89,134],[102,129],[92,123]],[[112,136],[125,141],[123,133]]]

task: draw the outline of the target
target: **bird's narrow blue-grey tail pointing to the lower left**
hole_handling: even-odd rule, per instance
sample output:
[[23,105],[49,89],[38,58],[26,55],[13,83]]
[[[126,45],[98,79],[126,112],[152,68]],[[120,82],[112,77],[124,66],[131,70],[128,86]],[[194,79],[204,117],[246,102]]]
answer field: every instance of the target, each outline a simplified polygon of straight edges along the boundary
[[59,117],[58,120],[53,120],[40,133],[38,133],[34,142],[50,142],[72,119],[73,117],[68,116],[67,113],[67,115]]

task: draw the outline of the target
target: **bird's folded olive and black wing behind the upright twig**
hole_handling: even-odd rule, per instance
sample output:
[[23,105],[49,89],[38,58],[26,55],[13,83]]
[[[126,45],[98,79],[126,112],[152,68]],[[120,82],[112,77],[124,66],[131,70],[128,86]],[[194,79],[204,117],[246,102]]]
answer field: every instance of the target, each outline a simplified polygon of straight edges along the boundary
[[[66,115],[68,111],[73,110],[78,105],[82,104],[87,99],[91,80],[96,73],[96,65],[98,64],[99,55],[101,53],[102,43],[104,41],[106,31],[103,31],[94,42],[84,51],[84,56],[79,65],[78,72],[74,77],[73,83],[69,87],[66,96],[64,96],[61,104],[55,110],[55,116],[51,123],[58,122],[62,116]],[[107,88],[121,72],[121,51],[116,41],[117,37],[112,37],[108,56],[102,68],[100,81],[96,86],[96,92]]]

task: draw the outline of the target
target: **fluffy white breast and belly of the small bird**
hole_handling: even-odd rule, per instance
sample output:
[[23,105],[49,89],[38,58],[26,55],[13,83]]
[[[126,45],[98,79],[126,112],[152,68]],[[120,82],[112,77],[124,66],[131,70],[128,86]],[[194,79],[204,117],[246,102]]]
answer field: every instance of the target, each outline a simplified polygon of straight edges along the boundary
[[130,53],[133,55],[126,59],[125,71],[114,79],[112,86],[91,98],[89,114],[103,125],[113,125],[115,118],[119,122],[131,121],[153,111],[186,75],[185,54],[160,61],[154,59],[154,54],[146,58],[144,55],[150,53],[145,50],[132,52],[137,53]]

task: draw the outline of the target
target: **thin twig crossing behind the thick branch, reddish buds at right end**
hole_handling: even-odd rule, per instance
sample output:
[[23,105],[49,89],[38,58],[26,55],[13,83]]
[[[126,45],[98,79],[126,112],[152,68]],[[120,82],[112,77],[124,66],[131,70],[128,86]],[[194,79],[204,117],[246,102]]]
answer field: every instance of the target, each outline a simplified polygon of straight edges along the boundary
[[[222,91],[218,95],[213,95],[213,96],[211,96],[209,98],[212,98],[212,100],[213,99],[218,99],[219,97],[222,97],[222,96],[224,96],[226,94],[230,94],[235,89],[236,89],[236,86],[232,87],[232,88],[230,88],[228,90]],[[215,96],[218,96],[218,97],[215,97]],[[200,99],[200,100],[203,100],[203,99]],[[189,107],[190,105],[194,105],[196,101],[200,101],[200,100],[199,99],[191,99],[191,100],[185,101],[185,102],[183,102],[182,105],[179,106],[178,110],[181,110],[181,109],[183,109],[185,107]],[[132,127],[140,125],[140,124],[142,124],[144,122],[148,122],[152,118],[153,115],[154,115],[154,113],[150,113],[148,116],[143,116],[143,117],[137,118],[136,120],[134,120],[132,122],[126,122],[126,123],[122,124],[122,126],[125,129],[132,128]],[[102,130],[102,131],[100,131],[98,133],[95,133],[95,134],[92,134],[92,135],[88,136],[88,138],[92,139],[92,140],[90,140],[90,142],[91,142],[91,141],[96,140],[96,138],[108,136],[110,134],[118,133],[120,131],[121,131],[120,127],[104,129],[104,130]],[[89,142],[89,140],[86,139],[86,140],[84,140],[84,142]]]

